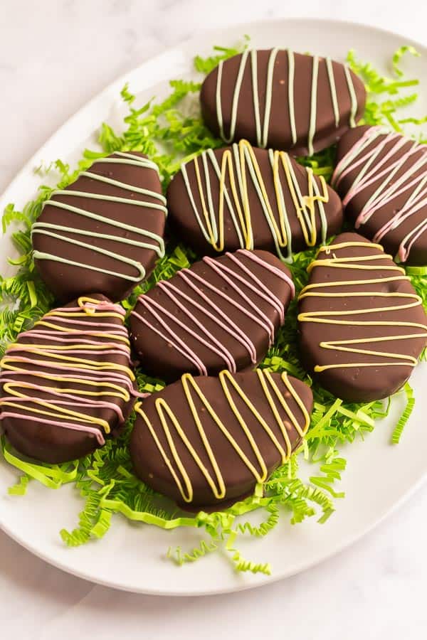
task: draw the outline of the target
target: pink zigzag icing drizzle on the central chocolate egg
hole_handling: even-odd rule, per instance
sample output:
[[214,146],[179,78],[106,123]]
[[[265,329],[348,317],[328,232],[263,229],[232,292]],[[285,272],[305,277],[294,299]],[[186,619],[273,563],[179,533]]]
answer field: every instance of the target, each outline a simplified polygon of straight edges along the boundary
[[[191,361],[200,375],[208,375],[208,371],[196,351],[188,346],[188,338],[186,336],[191,336],[191,338],[194,338],[201,345],[216,353],[220,358],[223,358],[228,370],[233,373],[236,373],[237,370],[233,355],[226,349],[223,343],[216,338],[214,333],[206,328],[204,318],[209,318],[211,321],[214,321],[219,329],[226,331],[232,338],[240,342],[248,351],[253,365],[258,361],[254,343],[243,333],[240,327],[222,311],[221,307],[212,300],[212,297],[220,297],[227,304],[231,304],[235,309],[238,309],[241,314],[250,318],[255,324],[258,324],[268,335],[269,346],[272,346],[275,339],[275,326],[268,318],[268,314],[263,313],[258,305],[247,297],[242,287],[251,289],[258,298],[268,302],[268,304],[277,311],[280,324],[283,324],[285,321],[283,303],[239,260],[241,256],[247,257],[249,260],[261,265],[265,270],[283,279],[283,281],[289,285],[292,297],[295,294],[295,287],[292,280],[282,270],[273,265],[269,265],[268,262],[261,260],[260,257],[253,255],[250,251],[238,250],[236,254],[237,255],[226,253],[226,256],[231,260],[237,270],[231,269],[230,266],[226,265],[223,261],[220,262],[211,257],[203,258],[204,263],[233,290],[234,295],[230,296],[224,293],[220,285],[216,287],[205,278],[200,277],[194,270],[182,269],[177,272],[175,278],[184,280],[186,285],[191,289],[191,295],[182,292],[176,287],[173,283],[174,279],[158,282],[156,286],[159,287],[184,314],[184,320],[180,320],[176,314],[167,311],[167,309],[164,309],[155,299],[145,296],[144,294],[139,296],[138,302],[149,311],[149,314],[160,324],[161,329],[157,329],[146,316],[139,314],[137,311],[132,311],[132,315],[141,321],[142,324],[151,329],[151,331],[154,331],[154,333],[165,342],[172,343],[174,348],[179,351],[182,356]],[[206,289],[209,289],[209,293],[206,293]],[[238,299],[241,299],[243,302],[238,302]],[[199,312],[199,316],[196,316],[197,311]],[[191,321],[191,324],[195,324],[197,329],[191,329],[186,322],[187,319]],[[174,324],[179,327],[177,331],[172,328]]]

